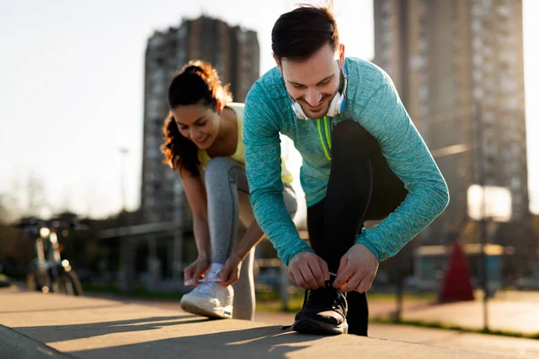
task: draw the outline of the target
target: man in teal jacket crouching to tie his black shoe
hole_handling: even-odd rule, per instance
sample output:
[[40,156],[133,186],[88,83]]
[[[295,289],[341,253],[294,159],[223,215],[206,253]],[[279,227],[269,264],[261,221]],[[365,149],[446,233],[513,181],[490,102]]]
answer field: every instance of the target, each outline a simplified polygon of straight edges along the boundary
[[[389,76],[344,56],[331,10],[303,6],[271,34],[277,67],[245,101],[244,144],[254,214],[309,291],[293,328],[367,336],[366,292],[394,256],[447,206],[446,181]],[[311,246],[283,204],[279,133],[303,157]],[[384,219],[372,230],[366,220]]]

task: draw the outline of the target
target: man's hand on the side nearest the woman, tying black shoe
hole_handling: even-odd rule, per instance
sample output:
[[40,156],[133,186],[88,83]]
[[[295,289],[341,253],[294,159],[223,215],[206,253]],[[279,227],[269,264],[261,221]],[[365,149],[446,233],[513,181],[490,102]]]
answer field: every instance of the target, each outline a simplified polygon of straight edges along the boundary
[[288,263],[288,278],[296,285],[308,290],[325,287],[330,271],[323,258],[313,252],[299,252]]

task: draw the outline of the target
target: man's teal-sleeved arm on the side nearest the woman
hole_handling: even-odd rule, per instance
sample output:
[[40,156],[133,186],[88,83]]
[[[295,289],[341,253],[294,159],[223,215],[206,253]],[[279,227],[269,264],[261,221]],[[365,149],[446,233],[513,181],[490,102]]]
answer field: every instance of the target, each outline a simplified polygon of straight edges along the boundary
[[245,170],[255,218],[277,250],[278,258],[288,265],[297,253],[313,250],[299,238],[283,200],[279,127],[269,102],[255,83],[245,100]]

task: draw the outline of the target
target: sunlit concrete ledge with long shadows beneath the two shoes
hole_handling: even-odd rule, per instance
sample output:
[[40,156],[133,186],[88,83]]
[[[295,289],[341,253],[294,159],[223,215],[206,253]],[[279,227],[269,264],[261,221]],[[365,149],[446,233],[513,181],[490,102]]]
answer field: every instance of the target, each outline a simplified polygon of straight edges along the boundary
[[0,332],[0,357],[9,353],[9,358],[511,357],[349,335],[305,336],[258,322],[208,320],[179,305],[177,311],[164,310],[13,291],[0,291],[0,302],[0,323],[11,328]]

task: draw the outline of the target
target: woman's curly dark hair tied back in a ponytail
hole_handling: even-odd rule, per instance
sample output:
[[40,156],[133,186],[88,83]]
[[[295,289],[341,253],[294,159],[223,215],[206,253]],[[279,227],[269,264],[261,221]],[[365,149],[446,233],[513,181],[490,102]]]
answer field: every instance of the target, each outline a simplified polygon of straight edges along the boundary
[[[174,76],[168,90],[169,109],[181,105],[201,104],[209,109],[217,109],[217,101],[225,106],[232,101],[229,84],[222,85],[216,69],[208,62],[196,60],[183,66]],[[163,163],[172,169],[181,168],[192,175],[199,175],[199,149],[190,139],[181,136],[178,125],[169,111],[163,125],[164,143],[161,152]]]

